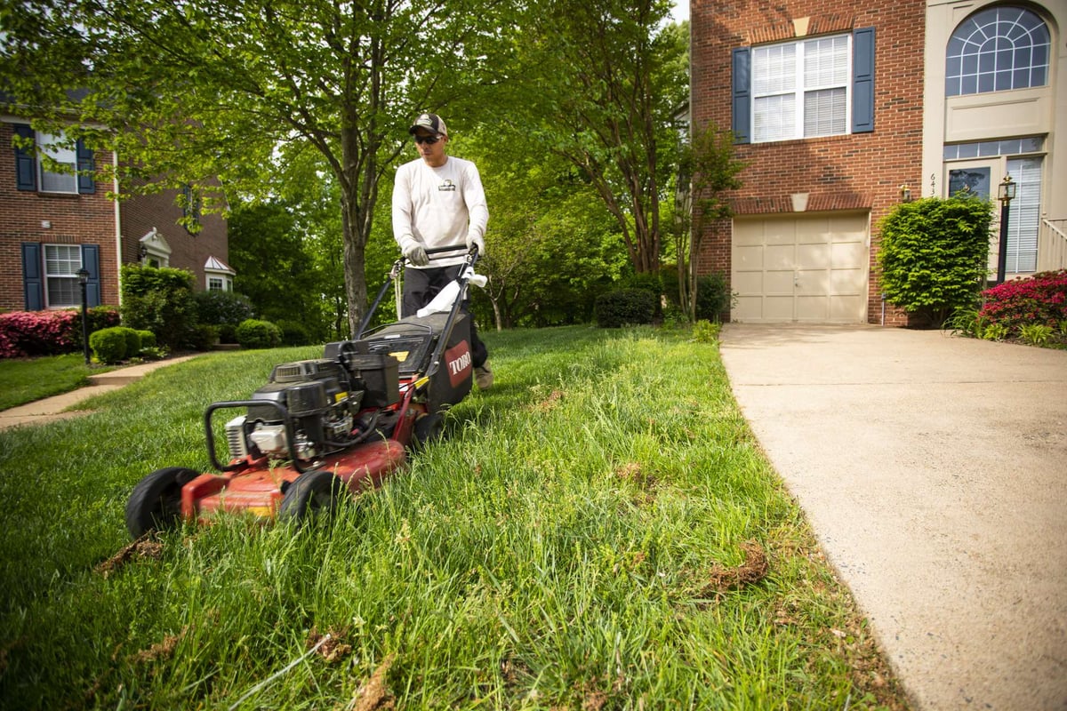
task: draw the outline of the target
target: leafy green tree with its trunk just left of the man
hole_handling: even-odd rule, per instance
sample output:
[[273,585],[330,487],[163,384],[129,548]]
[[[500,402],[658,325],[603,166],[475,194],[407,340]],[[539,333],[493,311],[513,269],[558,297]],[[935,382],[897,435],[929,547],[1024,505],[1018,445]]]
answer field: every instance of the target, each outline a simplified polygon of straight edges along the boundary
[[[349,329],[366,304],[379,180],[418,111],[477,84],[505,5],[452,0],[2,0],[0,91],[79,119],[128,159],[124,188],[269,189],[280,145],[317,151],[339,189]],[[69,90],[79,88],[77,96]],[[216,204],[221,195],[217,194]]]

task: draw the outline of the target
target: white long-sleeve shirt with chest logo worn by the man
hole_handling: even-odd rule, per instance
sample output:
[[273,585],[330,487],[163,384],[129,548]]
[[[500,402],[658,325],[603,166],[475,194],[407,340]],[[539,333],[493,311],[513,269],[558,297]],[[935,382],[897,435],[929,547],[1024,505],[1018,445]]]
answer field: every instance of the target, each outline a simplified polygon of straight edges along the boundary
[[[463,246],[467,235],[484,239],[489,206],[478,168],[448,157],[441,167],[421,158],[397,168],[393,187],[393,238],[401,252],[417,242],[425,247]],[[463,262],[464,255],[434,259],[430,266]]]

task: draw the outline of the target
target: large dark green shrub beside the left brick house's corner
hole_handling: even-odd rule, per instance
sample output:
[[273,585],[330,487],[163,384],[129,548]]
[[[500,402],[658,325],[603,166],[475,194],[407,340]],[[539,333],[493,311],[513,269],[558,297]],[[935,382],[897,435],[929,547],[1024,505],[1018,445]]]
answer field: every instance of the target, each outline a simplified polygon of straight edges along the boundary
[[193,279],[186,270],[123,264],[123,324],[170,350],[187,344],[197,324]]

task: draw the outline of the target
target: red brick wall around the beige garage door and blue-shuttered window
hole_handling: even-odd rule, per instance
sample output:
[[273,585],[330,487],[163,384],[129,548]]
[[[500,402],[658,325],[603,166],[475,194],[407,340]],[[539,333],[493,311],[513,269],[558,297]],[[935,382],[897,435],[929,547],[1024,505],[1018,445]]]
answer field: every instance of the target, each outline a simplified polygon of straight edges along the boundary
[[[740,214],[792,212],[792,193],[809,193],[808,212],[870,210],[872,273],[867,321],[881,319],[881,289],[874,265],[878,221],[899,201],[899,187],[921,193],[923,130],[923,42],[925,2],[781,3],[690,0],[691,115],[696,127],[729,130],[731,50],[796,37],[794,20],[807,18],[806,36],[875,28],[875,130],[800,141],[736,146],[748,163],[744,187],[731,194]],[[731,224],[712,225],[698,262],[701,273],[730,275]],[[903,313],[887,309],[886,322],[902,325]]]

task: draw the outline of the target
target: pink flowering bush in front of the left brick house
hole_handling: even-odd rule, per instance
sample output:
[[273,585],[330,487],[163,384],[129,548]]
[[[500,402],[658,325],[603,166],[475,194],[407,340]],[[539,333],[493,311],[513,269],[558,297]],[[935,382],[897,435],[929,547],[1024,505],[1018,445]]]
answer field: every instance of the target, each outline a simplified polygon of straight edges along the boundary
[[[109,306],[89,310],[90,333],[118,324]],[[81,311],[12,311],[0,313],[0,358],[71,353],[81,348]]]

